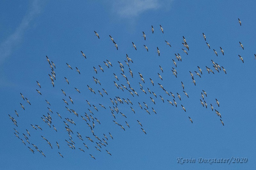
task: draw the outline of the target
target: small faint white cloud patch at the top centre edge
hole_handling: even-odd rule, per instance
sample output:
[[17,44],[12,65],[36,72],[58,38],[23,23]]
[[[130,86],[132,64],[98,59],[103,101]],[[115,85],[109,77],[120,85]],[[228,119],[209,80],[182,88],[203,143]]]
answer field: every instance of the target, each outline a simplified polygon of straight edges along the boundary
[[119,0],[114,4],[114,10],[120,17],[131,18],[147,10],[156,10],[161,5],[157,0]]

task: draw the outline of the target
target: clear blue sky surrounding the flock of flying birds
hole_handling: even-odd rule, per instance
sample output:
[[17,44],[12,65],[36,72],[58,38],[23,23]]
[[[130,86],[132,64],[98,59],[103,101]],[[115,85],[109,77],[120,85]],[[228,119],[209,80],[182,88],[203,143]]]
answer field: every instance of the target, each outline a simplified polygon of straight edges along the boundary
[[[254,26],[256,18],[252,15],[256,4],[252,1],[151,1],[138,0],[127,3],[125,1],[92,2],[80,1],[72,4],[62,1],[4,1],[0,7],[0,94],[2,111],[2,148],[0,151],[0,166],[4,169],[253,169],[255,165],[255,64],[254,60],[256,40]],[[242,21],[239,25],[238,19]],[[160,25],[164,34],[160,31]],[[151,32],[151,25],[155,31]],[[99,33],[98,39],[94,32]],[[146,34],[146,41],[142,37],[142,31]],[[206,35],[204,41],[203,35]],[[116,50],[109,36],[114,38],[118,45]],[[184,36],[189,45],[188,55],[182,43]],[[164,41],[170,42],[172,47]],[[244,50],[239,47],[239,41],[244,45]],[[132,48],[132,42],[137,50]],[[209,49],[206,43],[210,44]],[[148,47],[148,52],[144,46]],[[160,50],[160,56],[156,53],[156,47]],[[220,47],[224,50],[221,55]],[[213,52],[218,52],[216,56]],[[83,51],[85,59],[80,51]],[[182,62],[175,59],[174,54],[179,53]],[[132,59],[130,76],[128,66],[125,64],[126,54]],[[51,68],[46,61],[48,56],[56,65],[54,69],[56,80],[54,87],[48,74]],[[244,59],[239,60],[238,55]],[[177,78],[172,75],[172,63],[177,63]],[[103,61],[110,61],[113,67],[104,66]],[[213,60],[223,66],[227,74],[222,70],[218,73],[212,67]],[[132,97],[127,90],[124,92],[114,86],[126,85],[126,80],[121,75],[119,63],[124,65],[124,74],[128,78],[132,88],[139,96]],[[127,61],[127,60],[126,60]],[[66,65],[71,65],[73,70]],[[104,72],[99,69],[100,65]],[[159,65],[163,68],[162,73]],[[96,74],[93,66],[98,70]],[[199,78],[194,74],[196,86],[192,83],[189,71],[195,73],[199,66],[203,74]],[[215,74],[208,74],[205,66],[214,70]],[[76,72],[77,67],[81,75]],[[140,72],[145,84],[140,80]],[[115,73],[119,81],[113,75]],[[163,80],[158,78],[160,73]],[[100,80],[101,85],[95,84],[92,76]],[[68,78],[69,85],[64,77]],[[151,78],[155,86],[150,84]],[[36,81],[42,88],[39,89]],[[181,87],[185,85],[187,98]],[[140,90],[140,84],[147,94]],[[171,106],[167,100],[172,101],[157,85],[160,83],[169,93],[175,95],[178,107]],[[96,94],[90,92],[87,85],[92,87]],[[75,87],[81,93],[76,92]],[[103,97],[97,92],[108,95]],[[149,94],[155,92],[157,98]],[[42,96],[37,94],[40,90]],[[63,89],[67,96],[61,92]],[[200,104],[201,92],[207,92],[204,98],[208,108]],[[21,97],[20,92],[28,98],[31,106]],[[181,96],[178,99],[176,92]],[[164,103],[159,95],[164,98]],[[68,101],[70,96],[74,105]],[[119,96],[128,98],[133,105],[118,103],[120,113],[113,118],[109,106],[113,106],[110,99]],[[152,97],[156,105],[154,105]],[[215,98],[220,102],[216,105]],[[68,106],[62,99],[68,101]],[[48,100],[51,106],[47,105]],[[95,105],[99,112],[87,105]],[[147,103],[150,115],[141,110],[138,102],[145,108]],[[25,111],[20,107],[25,107]],[[100,107],[103,104],[107,109]],[[186,108],[182,110],[180,105]],[[210,104],[221,113],[225,126],[222,126],[220,117],[210,109]],[[74,109],[79,117],[69,113],[65,106]],[[135,110],[131,111],[130,106]],[[53,113],[52,124],[58,132],[50,128],[41,119],[47,115],[51,108]],[[151,107],[157,114],[152,112]],[[80,117],[84,112],[90,114],[88,108],[99,119],[101,124],[95,122],[94,134],[101,139],[103,133],[108,136],[107,147],[102,146],[101,152],[95,149],[96,138],[93,137],[90,128]],[[19,117],[15,115],[16,110]],[[58,112],[62,119],[56,114]],[[13,125],[11,115],[18,124]],[[193,124],[188,116],[192,118]],[[85,116],[84,116],[85,117]],[[70,124],[64,118],[72,119],[76,125]],[[123,125],[115,125],[115,120]],[[137,120],[147,135],[142,132]],[[73,141],[76,149],[68,147],[69,136],[65,129],[66,121],[73,130]],[[126,126],[125,121],[130,125]],[[92,124],[92,122],[88,122]],[[39,125],[43,130],[33,129],[33,125]],[[52,126],[51,126],[52,127]],[[20,134],[26,146],[13,134],[15,128]],[[30,144],[26,142],[22,133],[26,129],[31,134]],[[82,135],[83,141],[76,137],[76,132]],[[110,139],[108,132],[113,136]],[[51,149],[47,142],[40,136],[44,136],[53,146]],[[89,136],[94,143],[85,138]],[[56,146],[60,144],[60,149]],[[42,150],[46,157],[41,155],[31,145],[35,144]],[[29,151],[28,146],[35,151]],[[84,149],[85,152],[79,151]],[[105,151],[107,149],[112,156]],[[64,158],[59,156],[60,152]],[[92,159],[92,154],[96,159]],[[177,163],[177,158],[205,159],[230,159],[239,157],[248,159],[247,163],[221,164],[213,163]]]

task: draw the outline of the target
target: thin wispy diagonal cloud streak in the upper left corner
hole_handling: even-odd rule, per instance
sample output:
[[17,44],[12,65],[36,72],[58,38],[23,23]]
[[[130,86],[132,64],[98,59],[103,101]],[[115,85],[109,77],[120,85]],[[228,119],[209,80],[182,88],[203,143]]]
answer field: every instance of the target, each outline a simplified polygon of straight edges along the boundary
[[23,34],[28,29],[33,19],[40,13],[41,5],[40,1],[32,1],[30,9],[27,14],[22,18],[20,25],[16,28],[7,39],[0,44],[0,65],[4,60],[12,55],[12,51],[19,45],[22,40]]

